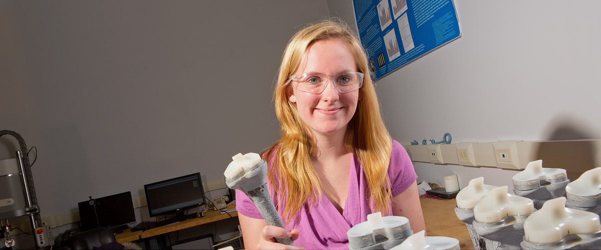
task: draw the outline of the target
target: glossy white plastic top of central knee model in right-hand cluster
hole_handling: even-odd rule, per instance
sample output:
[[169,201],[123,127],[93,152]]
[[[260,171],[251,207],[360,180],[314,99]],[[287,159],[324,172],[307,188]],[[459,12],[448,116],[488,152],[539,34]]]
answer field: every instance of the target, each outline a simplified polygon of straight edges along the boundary
[[474,219],[480,223],[494,223],[508,216],[529,215],[534,210],[534,201],[507,194],[507,186],[499,186],[474,206]]

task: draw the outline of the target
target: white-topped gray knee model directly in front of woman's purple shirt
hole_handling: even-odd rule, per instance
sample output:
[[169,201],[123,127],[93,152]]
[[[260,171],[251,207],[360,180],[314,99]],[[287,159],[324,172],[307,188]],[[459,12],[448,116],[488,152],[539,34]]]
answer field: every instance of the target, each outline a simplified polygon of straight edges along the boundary
[[381,212],[367,215],[367,221],[347,231],[349,249],[390,249],[413,234],[409,219],[403,216],[385,216]]

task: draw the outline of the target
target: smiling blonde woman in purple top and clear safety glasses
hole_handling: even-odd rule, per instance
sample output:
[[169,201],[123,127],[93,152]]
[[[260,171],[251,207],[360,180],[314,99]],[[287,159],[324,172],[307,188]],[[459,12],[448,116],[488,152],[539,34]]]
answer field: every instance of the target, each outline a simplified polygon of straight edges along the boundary
[[343,22],[325,20],[291,38],[274,101],[282,137],[263,158],[287,229],[267,226],[237,191],[245,248],[347,249],[346,232],[374,212],[425,229],[413,165],[386,131],[367,56]]

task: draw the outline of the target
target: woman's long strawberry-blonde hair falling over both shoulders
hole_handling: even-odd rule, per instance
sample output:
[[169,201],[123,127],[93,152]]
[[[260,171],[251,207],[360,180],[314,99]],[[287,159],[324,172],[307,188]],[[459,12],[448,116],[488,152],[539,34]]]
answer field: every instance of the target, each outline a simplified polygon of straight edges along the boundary
[[[365,75],[363,86],[359,89],[362,98],[347,125],[344,143],[362,162],[369,192],[366,195],[371,209],[384,214],[391,212],[391,187],[387,170],[392,142],[380,115],[367,55],[346,23],[340,19],[328,19],[301,29],[290,39],[282,56],[273,92],[275,112],[281,125],[281,138],[264,153],[264,158],[268,161],[273,159],[270,164],[275,171],[269,171],[270,188],[276,207],[284,214],[287,222],[294,218],[305,203],[309,202],[311,206],[316,204],[322,192],[319,176],[311,160],[316,155],[314,137],[299,116],[296,103],[291,103],[287,98],[288,77],[298,69],[311,44],[328,39],[344,41],[352,52],[359,71]],[[285,206],[279,206],[281,203]]]

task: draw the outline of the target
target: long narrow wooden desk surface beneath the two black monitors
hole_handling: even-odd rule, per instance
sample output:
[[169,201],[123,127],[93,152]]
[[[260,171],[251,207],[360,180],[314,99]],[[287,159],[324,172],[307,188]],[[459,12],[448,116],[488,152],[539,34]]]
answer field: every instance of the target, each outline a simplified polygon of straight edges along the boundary
[[118,243],[131,242],[134,240],[157,236],[159,234],[195,227],[197,225],[207,224],[236,216],[238,216],[238,212],[230,212],[228,215],[227,213],[222,214],[221,211],[210,210],[204,213],[204,216],[200,218],[188,219],[187,221],[181,221],[175,224],[164,225],[162,227],[151,228],[144,231],[132,232],[130,228],[127,228],[126,230],[123,230],[123,233],[115,235],[115,238],[117,239]]

